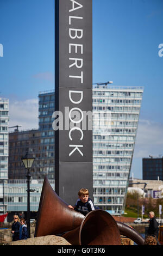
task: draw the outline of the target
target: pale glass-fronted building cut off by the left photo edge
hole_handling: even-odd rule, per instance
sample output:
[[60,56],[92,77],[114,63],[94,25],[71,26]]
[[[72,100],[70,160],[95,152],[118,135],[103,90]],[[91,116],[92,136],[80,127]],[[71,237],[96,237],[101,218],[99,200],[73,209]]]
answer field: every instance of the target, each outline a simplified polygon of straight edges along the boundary
[[8,179],[9,100],[0,97],[0,180]]

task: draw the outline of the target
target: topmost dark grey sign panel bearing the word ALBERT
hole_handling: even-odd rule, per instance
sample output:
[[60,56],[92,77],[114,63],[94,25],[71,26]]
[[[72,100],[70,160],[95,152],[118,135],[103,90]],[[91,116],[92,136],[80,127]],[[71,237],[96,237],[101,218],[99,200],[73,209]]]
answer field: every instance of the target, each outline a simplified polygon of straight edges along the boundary
[[[82,4],[83,8],[71,12],[69,10],[72,9],[73,2],[70,0],[62,0],[59,5],[59,85],[61,87],[92,88],[92,0],[78,0],[77,2]],[[74,8],[76,7],[78,5],[75,4]],[[78,17],[78,19],[73,17]],[[72,29],[78,29],[78,31]],[[76,53],[76,47],[70,44],[82,46],[77,47]],[[77,68],[77,65],[71,66],[74,60],[70,58],[82,59],[77,62],[78,66],[81,66],[83,62],[82,68]]]

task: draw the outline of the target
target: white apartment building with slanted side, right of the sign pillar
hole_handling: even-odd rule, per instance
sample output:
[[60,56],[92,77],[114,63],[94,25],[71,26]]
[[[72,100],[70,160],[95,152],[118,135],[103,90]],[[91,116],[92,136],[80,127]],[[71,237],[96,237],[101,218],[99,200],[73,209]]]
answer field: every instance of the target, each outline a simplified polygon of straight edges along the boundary
[[142,87],[93,88],[93,202],[112,215],[124,211],[142,94]]

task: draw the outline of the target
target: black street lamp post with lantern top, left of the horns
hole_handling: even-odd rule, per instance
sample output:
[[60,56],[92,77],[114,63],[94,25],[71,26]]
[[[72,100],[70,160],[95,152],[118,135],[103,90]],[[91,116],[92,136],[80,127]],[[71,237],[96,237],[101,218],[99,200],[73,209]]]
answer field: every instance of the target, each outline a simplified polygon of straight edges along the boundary
[[22,157],[22,162],[24,167],[27,169],[27,230],[28,230],[28,237],[30,238],[30,173],[29,169],[32,167],[34,162],[34,157],[30,157],[28,152],[24,157]]

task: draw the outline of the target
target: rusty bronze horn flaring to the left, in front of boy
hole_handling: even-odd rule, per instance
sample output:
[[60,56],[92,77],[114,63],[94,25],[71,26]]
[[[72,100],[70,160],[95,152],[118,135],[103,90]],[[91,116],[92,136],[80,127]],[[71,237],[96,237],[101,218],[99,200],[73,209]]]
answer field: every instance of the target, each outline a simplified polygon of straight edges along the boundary
[[84,215],[68,208],[45,177],[42,186],[35,237],[57,235],[79,227]]

